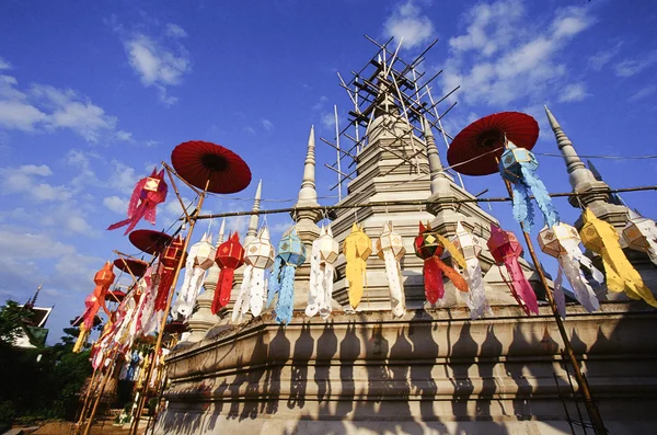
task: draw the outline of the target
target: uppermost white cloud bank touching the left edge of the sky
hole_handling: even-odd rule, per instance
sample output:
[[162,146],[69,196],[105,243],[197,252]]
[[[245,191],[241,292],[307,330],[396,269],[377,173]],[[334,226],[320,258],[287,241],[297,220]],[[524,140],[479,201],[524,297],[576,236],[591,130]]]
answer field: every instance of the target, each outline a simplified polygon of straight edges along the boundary
[[14,77],[0,75],[0,127],[22,131],[66,128],[99,142],[112,136],[116,124],[116,117],[71,89],[38,83],[20,89]]

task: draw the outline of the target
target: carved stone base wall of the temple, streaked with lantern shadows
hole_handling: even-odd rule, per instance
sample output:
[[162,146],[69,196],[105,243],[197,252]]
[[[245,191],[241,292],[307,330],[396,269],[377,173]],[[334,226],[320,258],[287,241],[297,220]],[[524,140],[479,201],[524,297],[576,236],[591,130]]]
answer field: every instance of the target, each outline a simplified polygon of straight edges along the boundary
[[[637,310],[638,309],[638,310]],[[266,314],[175,351],[160,434],[565,434],[568,378],[546,307]],[[569,306],[566,330],[611,434],[657,425],[657,311]],[[573,379],[573,382],[574,379]],[[577,416],[572,400],[568,412]],[[585,413],[580,404],[581,412]],[[586,413],[585,413],[586,414]]]

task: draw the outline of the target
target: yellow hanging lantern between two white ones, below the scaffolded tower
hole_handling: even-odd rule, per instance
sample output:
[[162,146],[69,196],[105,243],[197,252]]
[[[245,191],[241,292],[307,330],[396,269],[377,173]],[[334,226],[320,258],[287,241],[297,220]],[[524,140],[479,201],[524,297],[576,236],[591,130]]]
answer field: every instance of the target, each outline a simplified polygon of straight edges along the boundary
[[358,308],[362,298],[362,287],[367,273],[367,259],[372,253],[372,241],[356,224],[343,244],[343,253],[347,259],[345,275],[349,282],[349,305]]

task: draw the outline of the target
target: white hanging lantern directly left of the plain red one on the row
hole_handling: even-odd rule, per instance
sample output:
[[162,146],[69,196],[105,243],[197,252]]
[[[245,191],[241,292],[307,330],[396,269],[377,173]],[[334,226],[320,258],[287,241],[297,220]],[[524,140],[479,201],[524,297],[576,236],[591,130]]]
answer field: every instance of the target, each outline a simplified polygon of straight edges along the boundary
[[173,312],[177,312],[184,319],[192,316],[196,298],[203,286],[203,276],[215,264],[216,254],[217,250],[212,247],[212,237],[208,237],[207,233],[203,234],[198,243],[194,243],[189,248],[185,264],[185,278],[173,307]]

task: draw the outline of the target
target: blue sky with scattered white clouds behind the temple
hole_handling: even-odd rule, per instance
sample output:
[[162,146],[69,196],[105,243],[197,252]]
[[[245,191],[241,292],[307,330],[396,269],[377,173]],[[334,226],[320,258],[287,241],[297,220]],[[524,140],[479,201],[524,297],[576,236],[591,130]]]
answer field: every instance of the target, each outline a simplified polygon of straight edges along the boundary
[[[49,342],[82,311],[93,273],[112,250],[135,251],[122,232],[104,229],[124,218],[135,182],[168,161],[175,145],[224,145],[246,160],[254,180],[264,180],[266,199],[289,199],[314,124],[318,191],[333,195],[334,176],[323,163],[334,151],[319,136],[332,137],[333,104],[343,118],[349,108],[335,71],[346,77],[376,51],[364,34],[404,36],[408,58],[439,38],[425,65],[445,70],[436,91],[461,84],[446,117],[452,135],[480,116],[523,111],[542,127],[534,150],[556,152],[542,112],[548,104],[581,154],[655,153],[652,1],[631,8],[609,0],[246,3],[0,4],[0,298],[25,301],[44,279],[39,305],[56,306]],[[539,159],[548,188],[568,191],[563,161]],[[654,184],[654,160],[596,165],[613,187]],[[493,180],[466,178],[465,186],[503,195]],[[249,209],[255,186],[212,197],[207,210]],[[654,217],[654,195],[624,199]],[[556,202],[564,220],[575,220],[576,210]],[[292,203],[264,207],[283,204]],[[517,229],[508,205],[493,211]],[[157,228],[178,214],[170,195]],[[280,231],[289,219],[268,222]]]

